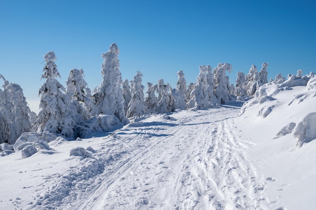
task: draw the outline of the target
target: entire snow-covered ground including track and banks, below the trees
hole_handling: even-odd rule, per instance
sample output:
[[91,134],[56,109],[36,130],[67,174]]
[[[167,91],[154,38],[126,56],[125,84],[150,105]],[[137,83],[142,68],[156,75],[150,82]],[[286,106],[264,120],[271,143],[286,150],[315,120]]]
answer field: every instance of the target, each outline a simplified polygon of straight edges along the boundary
[[315,84],[2,152],[0,209],[313,209]]

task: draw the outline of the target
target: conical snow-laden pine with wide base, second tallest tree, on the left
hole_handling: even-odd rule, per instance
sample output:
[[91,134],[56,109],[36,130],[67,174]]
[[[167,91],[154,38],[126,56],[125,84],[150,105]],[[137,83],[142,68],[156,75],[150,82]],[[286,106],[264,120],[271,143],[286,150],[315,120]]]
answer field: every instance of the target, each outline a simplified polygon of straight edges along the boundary
[[42,79],[45,82],[39,89],[41,110],[33,125],[35,132],[51,132],[62,136],[74,138],[76,121],[80,115],[77,113],[70,97],[65,94],[65,88],[57,81],[61,77],[54,51],[49,51],[44,55],[46,62],[43,68]]

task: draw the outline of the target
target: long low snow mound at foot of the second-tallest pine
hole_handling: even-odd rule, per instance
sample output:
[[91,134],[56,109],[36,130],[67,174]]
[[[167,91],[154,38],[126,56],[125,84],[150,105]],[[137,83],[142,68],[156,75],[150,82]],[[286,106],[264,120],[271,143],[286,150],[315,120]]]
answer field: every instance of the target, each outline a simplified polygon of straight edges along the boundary
[[25,146],[32,145],[33,142],[49,143],[51,141],[54,141],[56,138],[57,136],[55,134],[47,132],[25,132],[17,139],[16,143],[13,146],[13,149],[22,150]]

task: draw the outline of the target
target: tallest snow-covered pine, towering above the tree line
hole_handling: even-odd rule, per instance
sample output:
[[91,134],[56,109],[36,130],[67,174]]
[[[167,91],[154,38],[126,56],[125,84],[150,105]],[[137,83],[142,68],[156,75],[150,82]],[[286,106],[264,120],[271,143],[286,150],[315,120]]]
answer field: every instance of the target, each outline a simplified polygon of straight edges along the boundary
[[124,111],[124,98],[121,85],[123,83],[119,71],[120,61],[118,59],[120,50],[116,43],[112,43],[109,51],[102,53],[102,82],[92,95],[95,107],[93,115],[109,114],[116,116],[122,123],[127,124],[128,119]]

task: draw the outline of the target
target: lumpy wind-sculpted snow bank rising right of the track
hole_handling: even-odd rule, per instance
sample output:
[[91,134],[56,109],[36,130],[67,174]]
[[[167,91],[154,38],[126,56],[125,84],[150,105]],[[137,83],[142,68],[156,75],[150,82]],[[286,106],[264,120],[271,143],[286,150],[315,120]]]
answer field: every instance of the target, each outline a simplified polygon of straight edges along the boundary
[[[296,76],[289,75],[289,79],[281,84],[272,82],[261,86],[255,92],[254,98],[243,105],[241,112],[245,116],[255,113],[256,119],[274,115],[269,119],[280,119],[281,122],[276,137],[292,133],[299,147],[316,139],[313,131],[316,128],[316,115],[312,109],[312,104],[315,103],[316,80],[313,73],[303,77],[301,73],[298,71]],[[285,120],[285,116],[291,121]]]

